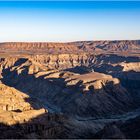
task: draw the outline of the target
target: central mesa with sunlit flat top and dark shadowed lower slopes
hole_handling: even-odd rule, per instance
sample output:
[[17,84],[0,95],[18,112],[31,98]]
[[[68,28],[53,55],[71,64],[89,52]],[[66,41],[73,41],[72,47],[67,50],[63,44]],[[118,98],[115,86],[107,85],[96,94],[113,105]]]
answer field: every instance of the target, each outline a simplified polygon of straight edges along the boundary
[[[70,114],[77,112],[79,116],[83,117],[101,117],[109,115],[109,112],[114,114],[115,110],[118,110],[118,113],[124,112],[132,103],[129,93],[120,85],[119,80],[109,75],[96,72],[73,75],[66,79],[66,85],[67,87],[63,89],[63,92],[72,95],[67,102],[64,101],[65,104],[62,108]],[[61,104],[63,104],[62,100]],[[125,107],[123,107],[124,104]]]

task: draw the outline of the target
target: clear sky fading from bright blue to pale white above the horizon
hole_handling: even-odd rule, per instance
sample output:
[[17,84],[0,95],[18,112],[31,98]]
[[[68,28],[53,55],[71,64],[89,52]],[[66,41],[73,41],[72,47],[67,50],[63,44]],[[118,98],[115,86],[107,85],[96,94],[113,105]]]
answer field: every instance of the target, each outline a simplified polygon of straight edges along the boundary
[[140,39],[140,1],[0,1],[0,42]]

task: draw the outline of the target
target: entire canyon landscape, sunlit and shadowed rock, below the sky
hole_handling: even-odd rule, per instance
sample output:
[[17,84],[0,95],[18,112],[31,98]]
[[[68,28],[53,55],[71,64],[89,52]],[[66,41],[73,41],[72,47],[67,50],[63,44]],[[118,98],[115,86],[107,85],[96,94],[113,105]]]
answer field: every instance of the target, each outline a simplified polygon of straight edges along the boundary
[[140,138],[139,40],[9,42],[0,55],[0,138]]

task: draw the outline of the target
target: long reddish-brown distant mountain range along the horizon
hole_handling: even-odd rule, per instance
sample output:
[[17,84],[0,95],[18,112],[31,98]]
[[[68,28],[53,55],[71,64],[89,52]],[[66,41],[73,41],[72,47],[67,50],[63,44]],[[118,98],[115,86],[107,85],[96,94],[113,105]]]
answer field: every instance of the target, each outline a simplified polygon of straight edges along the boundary
[[12,42],[0,43],[1,52],[20,52],[20,53],[140,53],[140,40],[122,41],[78,41],[70,43],[26,43]]

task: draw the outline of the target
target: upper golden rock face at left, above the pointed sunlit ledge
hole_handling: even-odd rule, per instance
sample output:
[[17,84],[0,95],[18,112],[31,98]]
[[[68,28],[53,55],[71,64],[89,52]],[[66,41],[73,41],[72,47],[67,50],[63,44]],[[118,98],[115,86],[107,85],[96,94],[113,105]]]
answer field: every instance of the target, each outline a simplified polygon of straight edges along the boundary
[[25,100],[29,98],[28,95],[19,92],[18,90],[0,84],[0,110],[3,111],[25,111],[31,110],[30,103]]

